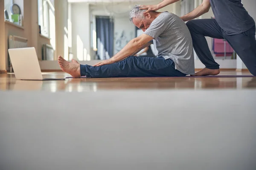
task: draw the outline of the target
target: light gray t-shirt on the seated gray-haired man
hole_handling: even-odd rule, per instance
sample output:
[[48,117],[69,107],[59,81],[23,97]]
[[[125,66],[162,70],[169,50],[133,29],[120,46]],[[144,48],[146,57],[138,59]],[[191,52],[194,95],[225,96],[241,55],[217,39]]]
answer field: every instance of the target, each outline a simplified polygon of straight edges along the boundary
[[153,20],[144,34],[154,38],[158,57],[172,59],[175,69],[184,74],[195,74],[192,38],[180,17],[163,12]]

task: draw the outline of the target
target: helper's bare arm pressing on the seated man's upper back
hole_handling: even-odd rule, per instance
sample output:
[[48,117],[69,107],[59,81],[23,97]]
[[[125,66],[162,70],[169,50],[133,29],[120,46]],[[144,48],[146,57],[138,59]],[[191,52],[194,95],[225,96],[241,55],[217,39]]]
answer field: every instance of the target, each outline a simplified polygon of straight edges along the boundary
[[183,17],[180,17],[184,22],[193,20],[197,17],[200,17],[202,14],[205,14],[209,11],[211,8],[210,0],[203,0],[203,3],[195,8],[192,12],[189,12],[188,14],[184,15]]

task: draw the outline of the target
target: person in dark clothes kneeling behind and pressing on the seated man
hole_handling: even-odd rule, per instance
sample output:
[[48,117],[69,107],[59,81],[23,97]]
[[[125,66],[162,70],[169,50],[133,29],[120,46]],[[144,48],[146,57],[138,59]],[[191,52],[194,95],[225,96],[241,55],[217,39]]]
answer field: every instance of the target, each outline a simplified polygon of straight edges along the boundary
[[[157,5],[140,6],[145,13],[157,11],[179,0],[163,0]],[[193,20],[205,14],[212,7],[215,19]],[[212,57],[205,37],[225,39],[236,51],[251,74],[256,76],[255,22],[244,8],[241,0],[203,0],[203,3],[189,14],[181,17],[189,21],[186,25],[192,36],[193,46],[205,68],[195,76],[217,75],[219,65]]]

